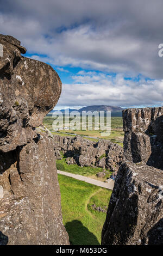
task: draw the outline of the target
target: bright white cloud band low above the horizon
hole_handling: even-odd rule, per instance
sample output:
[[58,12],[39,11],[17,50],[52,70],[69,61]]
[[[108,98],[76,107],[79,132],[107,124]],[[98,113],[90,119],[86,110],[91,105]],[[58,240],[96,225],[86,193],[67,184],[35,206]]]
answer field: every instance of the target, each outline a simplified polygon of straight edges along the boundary
[[[81,74],[82,72],[80,72]],[[112,105],[121,107],[163,105],[163,80],[125,80],[103,73],[77,75],[74,84],[63,84],[57,106]],[[93,72],[94,73],[94,72]],[[83,80],[82,80],[83,77]]]

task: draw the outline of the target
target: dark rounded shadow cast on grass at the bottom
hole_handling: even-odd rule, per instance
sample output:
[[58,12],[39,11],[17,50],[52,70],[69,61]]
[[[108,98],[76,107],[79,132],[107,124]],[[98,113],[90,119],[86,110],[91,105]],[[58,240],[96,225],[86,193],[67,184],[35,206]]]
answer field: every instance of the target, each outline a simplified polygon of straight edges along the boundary
[[71,245],[100,245],[97,237],[80,221],[67,222],[65,228],[70,237]]

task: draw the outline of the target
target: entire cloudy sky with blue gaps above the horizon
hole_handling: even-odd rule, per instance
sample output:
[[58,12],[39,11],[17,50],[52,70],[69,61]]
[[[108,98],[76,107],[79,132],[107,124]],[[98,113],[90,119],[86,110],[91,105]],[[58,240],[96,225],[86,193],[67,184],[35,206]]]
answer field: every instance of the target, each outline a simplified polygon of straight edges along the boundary
[[1,34],[58,72],[58,108],[163,105],[162,0],[0,3]]

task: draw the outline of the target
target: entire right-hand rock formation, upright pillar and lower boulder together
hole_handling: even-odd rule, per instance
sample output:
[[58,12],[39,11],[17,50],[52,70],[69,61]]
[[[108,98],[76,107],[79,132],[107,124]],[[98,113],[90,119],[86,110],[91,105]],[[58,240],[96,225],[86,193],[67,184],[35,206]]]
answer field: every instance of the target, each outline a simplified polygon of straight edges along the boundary
[[102,245],[163,243],[162,109],[123,112],[126,160],[116,176]]

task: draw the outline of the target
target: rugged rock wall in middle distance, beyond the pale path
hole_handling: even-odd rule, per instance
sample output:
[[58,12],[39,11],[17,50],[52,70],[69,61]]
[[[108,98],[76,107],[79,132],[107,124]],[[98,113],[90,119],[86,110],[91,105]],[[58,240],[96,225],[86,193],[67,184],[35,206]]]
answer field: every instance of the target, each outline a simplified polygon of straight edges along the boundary
[[76,163],[80,166],[91,166],[93,164],[97,167],[116,171],[122,163],[122,147],[105,139],[92,142],[80,136],[63,137],[54,135],[54,141],[57,159],[60,159],[59,151],[62,151],[67,156],[69,164]]

